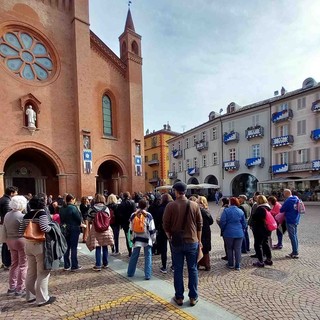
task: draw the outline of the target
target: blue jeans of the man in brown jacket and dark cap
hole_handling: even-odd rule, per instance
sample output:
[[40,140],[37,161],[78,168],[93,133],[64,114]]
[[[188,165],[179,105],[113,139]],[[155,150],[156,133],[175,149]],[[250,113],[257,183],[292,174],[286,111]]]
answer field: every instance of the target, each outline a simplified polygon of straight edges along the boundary
[[184,258],[187,261],[188,275],[189,275],[189,298],[198,298],[198,268],[197,258],[199,243],[185,243],[180,247],[171,246],[173,266],[174,266],[174,289],[177,299],[183,299],[184,285],[183,285],[183,265]]

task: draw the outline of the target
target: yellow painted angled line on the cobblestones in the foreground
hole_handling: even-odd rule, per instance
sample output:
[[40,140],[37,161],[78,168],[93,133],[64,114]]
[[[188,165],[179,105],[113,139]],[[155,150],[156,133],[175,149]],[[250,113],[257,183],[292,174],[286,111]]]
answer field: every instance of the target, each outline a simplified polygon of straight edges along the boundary
[[147,296],[147,297],[157,301],[158,303],[163,305],[166,309],[168,309],[170,312],[172,312],[174,314],[178,314],[183,319],[196,320],[196,318],[192,317],[188,313],[186,313],[183,310],[173,306],[171,303],[165,301],[164,299],[160,298],[159,296],[157,296],[157,295],[155,295],[155,294],[153,294],[151,292],[145,292],[145,293],[139,293],[139,294],[134,294],[134,295],[130,295],[130,296],[121,297],[121,298],[119,298],[117,300],[112,300],[112,301],[109,301],[109,302],[107,302],[105,304],[97,305],[97,306],[94,306],[94,307],[92,307],[90,309],[78,312],[78,313],[76,313],[76,314],[74,314],[72,316],[64,318],[64,320],[79,320],[79,319],[85,318],[87,316],[91,316],[95,312],[99,312],[99,311],[103,311],[103,310],[106,310],[106,309],[115,308],[115,307],[117,307],[117,306],[119,306],[119,305],[121,305],[121,304],[123,304],[125,302],[141,299],[141,297],[143,297],[143,296]]

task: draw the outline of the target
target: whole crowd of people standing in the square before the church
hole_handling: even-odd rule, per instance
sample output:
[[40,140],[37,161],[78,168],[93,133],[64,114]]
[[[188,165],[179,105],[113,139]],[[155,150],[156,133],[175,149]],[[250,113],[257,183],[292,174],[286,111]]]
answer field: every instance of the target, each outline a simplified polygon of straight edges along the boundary
[[[109,265],[108,255],[120,255],[119,236],[123,230],[129,256],[127,276],[135,275],[141,248],[144,252],[144,274],[152,276],[152,256],[161,256],[160,272],[173,271],[175,295],[173,301],[181,306],[184,300],[183,268],[188,269],[190,306],[198,302],[198,270],[211,269],[210,251],[213,215],[209,211],[206,197],[192,195],[187,198],[187,186],[177,182],[174,192],[135,193],[117,196],[96,194],[82,197],[80,204],[72,194],[53,199],[45,194],[28,197],[19,196],[16,187],[8,187],[0,199],[2,224],[2,264],[9,270],[7,295],[25,297],[28,303],[39,307],[53,303],[56,298],[49,295],[50,271],[59,264],[63,270],[78,272],[78,242],[89,250],[95,250],[94,271]],[[299,198],[289,189],[283,192],[285,201],[281,205],[277,198],[266,198],[259,192],[252,201],[246,195],[222,197],[216,222],[224,241],[226,267],[241,270],[241,256],[250,252],[248,228],[252,230],[256,258],[254,267],[272,266],[272,250],[281,250],[283,234],[287,231],[292,252],[288,258],[299,257],[297,228],[300,220]],[[271,230],[266,224],[269,212],[277,222],[277,243],[271,243]],[[43,241],[25,239],[29,223],[39,225],[45,234]],[[60,252],[52,258],[52,239],[59,240]],[[168,248],[171,251],[171,266],[168,264]],[[57,249],[56,249],[57,250]],[[200,255],[201,252],[201,255]]]

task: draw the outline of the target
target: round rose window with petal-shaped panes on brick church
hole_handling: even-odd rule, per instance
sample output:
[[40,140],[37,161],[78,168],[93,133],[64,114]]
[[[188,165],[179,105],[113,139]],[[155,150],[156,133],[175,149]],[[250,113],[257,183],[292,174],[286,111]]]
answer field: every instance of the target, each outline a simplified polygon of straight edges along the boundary
[[53,61],[43,41],[25,31],[8,31],[0,38],[0,59],[17,76],[26,80],[47,80]]

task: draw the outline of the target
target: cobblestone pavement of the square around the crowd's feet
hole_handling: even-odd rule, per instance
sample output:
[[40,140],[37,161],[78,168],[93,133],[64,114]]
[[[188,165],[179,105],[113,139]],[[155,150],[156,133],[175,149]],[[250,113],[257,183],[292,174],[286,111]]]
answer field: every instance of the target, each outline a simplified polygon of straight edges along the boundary
[[[213,213],[218,209],[215,205],[211,208]],[[291,252],[285,235],[284,248],[272,252],[272,267],[254,268],[254,259],[243,255],[238,272],[227,269],[225,261],[221,260],[222,238],[217,225],[213,225],[212,270],[199,272],[201,302],[219,306],[240,319],[320,319],[319,229],[319,207],[307,206],[307,214],[302,217],[298,229],[299,259],[285,258]],[[127,262],[123,237],[121,248],[123,254],[117,259]],[[52,272],[49,288],[50,294],[57,296],[57,302],[42,308],[7,297],[8,272],[1,269],[0,319],[215,319],[210,314],[192,315],[190,309],[201,305],[194,308],[174,306],[161,297],[161,286],[151,291],[132,282],[113,270],[111,258],[110,268],[101,272],[91,269],[92,255],[80,254],[79,260],[83,270],[78,273]],[[156,255],[153,257],[154,276],[171,286],[173,295],[172,273],[162,274],[159,267],[160,256]],[[138,268],[143,269],[143,259],[139,260]]]

